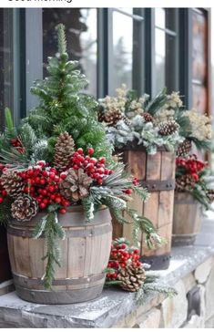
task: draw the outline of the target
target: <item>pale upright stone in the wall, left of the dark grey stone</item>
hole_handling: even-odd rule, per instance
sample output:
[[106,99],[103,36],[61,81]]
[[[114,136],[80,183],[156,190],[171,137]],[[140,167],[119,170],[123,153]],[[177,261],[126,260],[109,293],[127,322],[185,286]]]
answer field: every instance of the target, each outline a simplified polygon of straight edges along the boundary
[[162,303],[160,327],[178,328],[187,320],[188,300],[185,286],[180,280],[174,288],[177,290],[178,295],[171,298],[168,297]]

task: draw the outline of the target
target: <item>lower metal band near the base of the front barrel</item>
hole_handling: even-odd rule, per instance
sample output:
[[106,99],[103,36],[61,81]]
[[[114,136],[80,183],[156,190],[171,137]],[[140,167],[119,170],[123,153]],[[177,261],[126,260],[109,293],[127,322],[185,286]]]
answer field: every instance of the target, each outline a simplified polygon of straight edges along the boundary
[[[90,275],[82,278],[74,278],[74,279],[56,279],[53,280],[52,285],[88,285],[92,284],[96,281],[103,281],[105,274],[97,274],[97,275]],[[23,275],[15,275],[13,274],[13,278],[15,284],[17,285],[43,285],[43,281],[41,278],[27,278]]]

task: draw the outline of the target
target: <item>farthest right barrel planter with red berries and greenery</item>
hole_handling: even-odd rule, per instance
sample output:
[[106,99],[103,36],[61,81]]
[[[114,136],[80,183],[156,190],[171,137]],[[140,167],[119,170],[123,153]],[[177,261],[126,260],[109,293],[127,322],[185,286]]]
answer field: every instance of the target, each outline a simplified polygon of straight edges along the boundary
[[210,210],[214,191],[209,188],[206,176],[207,163],[196,155],[177,158],[176,192],[173,217],[172,244],[194,244],[200,231],[201,210]]

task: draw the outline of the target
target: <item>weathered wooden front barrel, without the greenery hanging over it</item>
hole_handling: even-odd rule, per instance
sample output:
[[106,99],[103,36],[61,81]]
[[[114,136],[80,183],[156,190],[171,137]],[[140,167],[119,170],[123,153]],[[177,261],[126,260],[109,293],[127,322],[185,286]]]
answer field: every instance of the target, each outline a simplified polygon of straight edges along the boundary
[[42,283],[46,261],[45,239],[34,239],[36,222],[45,213],[38,213],[30,222],[12,221],[8,227],[8,249],[15,289],[22,299],[40,304],[70,304],[99,296],[105,283],[112,240],[111,216],[106,207],[87,223],[81,206],[58,215],[66,232],[60,241],[61,267],[56,267],[53,289]]

